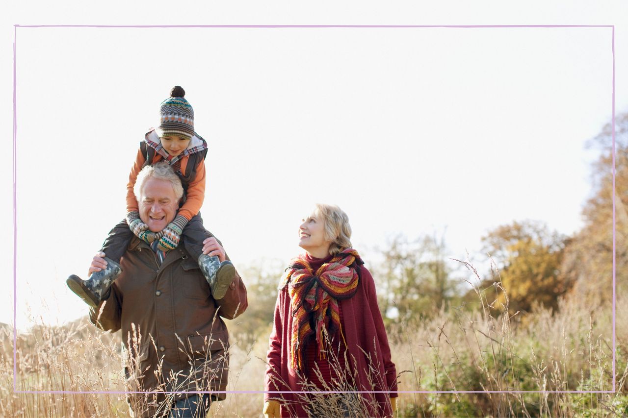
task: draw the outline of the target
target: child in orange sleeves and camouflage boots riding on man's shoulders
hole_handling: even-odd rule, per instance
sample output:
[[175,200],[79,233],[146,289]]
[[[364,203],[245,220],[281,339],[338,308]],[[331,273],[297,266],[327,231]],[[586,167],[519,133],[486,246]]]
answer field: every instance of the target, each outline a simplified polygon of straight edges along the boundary
[[[126,186],[126,220],[122,220],[109,232],[109,237],[100,249],[106,254],[106,269],[93,272],[87,281],[73,274],[67,279],[68,287],[92,308],[98,306],[101,297],[107,294],[109,286],[122,272],[120,259],[133,234],[151,245],[156,253],[175,249],[183,237],[185,249],[198,260],[214,299],[222,299],[235,277],[236,270],[230,261],[220,262],[218,257],[210,257],[202,252],[203,240],[212,236],[203,227],[203,220],[198,214],[205,198],[204,160],[207,156],[207,142],[194,131],[194,110],[184,96],[183,88],[172,88],[170,97],[160,105],[160,126],[151,129],[140,143]],[[183,205],[175,219],[163,231],[151,232],[139,218],[133,186],[139,171],[158,161],[167,161],[175,169],[185,192]]]

